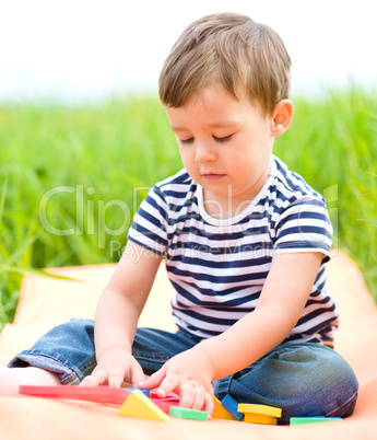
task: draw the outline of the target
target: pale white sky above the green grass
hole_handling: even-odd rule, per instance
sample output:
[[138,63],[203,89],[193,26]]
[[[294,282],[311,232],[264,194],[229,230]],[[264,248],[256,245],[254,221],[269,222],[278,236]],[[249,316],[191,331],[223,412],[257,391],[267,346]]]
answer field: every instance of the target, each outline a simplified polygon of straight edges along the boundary
[[376,83],[374,0],[1,0],[0,99],[81,102],[155,91],[184,27],[220,11],[246,13],[280,33],[294,94]]

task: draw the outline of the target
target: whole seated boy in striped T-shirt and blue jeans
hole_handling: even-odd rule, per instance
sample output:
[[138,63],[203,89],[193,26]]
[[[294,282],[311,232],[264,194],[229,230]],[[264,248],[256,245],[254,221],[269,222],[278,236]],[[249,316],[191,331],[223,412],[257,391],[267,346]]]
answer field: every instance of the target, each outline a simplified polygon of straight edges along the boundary
[[[293,115],[290,66],[280,37],[247,16],[188,26],[160,78],[185,169],[140,206],[95,326],[51,329],[2,370],[8,384],[126,381],[211,414],[210,393],[231,394],[282,407],[283,424],[352,414],[357,380],[328,347],[326,205],[272,154]],[[165,256],[179,331],[137,329]]]

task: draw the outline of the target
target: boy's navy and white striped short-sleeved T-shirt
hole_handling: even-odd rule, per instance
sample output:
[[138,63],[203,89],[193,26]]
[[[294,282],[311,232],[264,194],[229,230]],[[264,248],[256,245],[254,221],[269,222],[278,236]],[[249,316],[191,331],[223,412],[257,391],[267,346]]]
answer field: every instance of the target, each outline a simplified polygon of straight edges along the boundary
[[236,217],[210,217],[202,187],[181,170],[149,192],[128,238],[166,256],[174,320],[197,340],[221,334],[255,310],[274,256],[322,253],[305,309],[284,341],[331,346],[338,325],[326,283],[331,235],[323,198],[272,155],[263,188]]

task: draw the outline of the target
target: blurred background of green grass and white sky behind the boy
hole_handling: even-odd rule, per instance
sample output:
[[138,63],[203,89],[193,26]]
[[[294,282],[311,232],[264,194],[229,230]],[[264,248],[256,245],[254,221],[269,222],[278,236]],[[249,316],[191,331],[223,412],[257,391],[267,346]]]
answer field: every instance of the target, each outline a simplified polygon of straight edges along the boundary
[[375,1],[0,0],[0,329],[25,273],[119,259],[148,189],[181,167],[161,67],[222,11],[282,36],[295,115],[275,154],[323,194],[333,257],[377,300]]

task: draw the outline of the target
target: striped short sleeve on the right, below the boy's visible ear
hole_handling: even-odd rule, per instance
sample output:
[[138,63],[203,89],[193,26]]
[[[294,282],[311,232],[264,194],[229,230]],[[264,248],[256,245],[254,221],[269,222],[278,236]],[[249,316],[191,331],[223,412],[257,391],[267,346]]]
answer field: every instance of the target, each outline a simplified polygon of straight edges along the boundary
[[326,202],[306,196],[290,205],[275,225],[273,256],[280,253],[320,252],[331,258],[332,225]]

